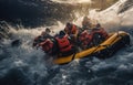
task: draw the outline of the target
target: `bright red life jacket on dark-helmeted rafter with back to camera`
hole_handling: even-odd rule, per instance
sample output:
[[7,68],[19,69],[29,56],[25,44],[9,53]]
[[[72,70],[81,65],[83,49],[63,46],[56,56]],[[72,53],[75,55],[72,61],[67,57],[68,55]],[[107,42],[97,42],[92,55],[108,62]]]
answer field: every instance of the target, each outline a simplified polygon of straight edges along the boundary
[[72,45],[68,40],[68,35],[64,35],[62,39],[55,38],[59,44],[60,52],[68,52],[71,51]]

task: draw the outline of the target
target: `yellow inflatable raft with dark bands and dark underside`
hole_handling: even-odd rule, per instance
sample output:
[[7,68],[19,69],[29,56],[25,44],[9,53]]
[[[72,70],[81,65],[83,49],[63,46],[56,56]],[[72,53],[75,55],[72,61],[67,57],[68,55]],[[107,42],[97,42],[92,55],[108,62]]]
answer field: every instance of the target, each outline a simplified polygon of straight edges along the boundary
[[60,56],[53,60],[55,64],[65,64],[75,59],[82,59],[85,56],[96,56],[96,57],[109,57],[113,55],[116,51],[130,44],[130,35],[124,31],[119,31],[116,33],[111,33],[110,38],[98,46],[90,47],[88,50],[74,53],[69,56]]

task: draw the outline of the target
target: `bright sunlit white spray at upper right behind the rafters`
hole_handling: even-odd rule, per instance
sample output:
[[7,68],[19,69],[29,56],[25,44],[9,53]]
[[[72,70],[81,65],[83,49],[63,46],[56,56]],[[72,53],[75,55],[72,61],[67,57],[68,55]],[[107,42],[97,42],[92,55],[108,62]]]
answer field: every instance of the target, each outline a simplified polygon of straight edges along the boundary
[[[117,31],[121,26],[131,26],[133,24],[132,22],[133,18],[131,18],[131,14],[133,13],[133,9],[119,13],[122,6],[124,6],[126,1],[127,0],[120,0],[112,7],[100,12],[96,11],[98,9],[92,9],[89,11],[88,17],[92,20],[92,23],[94,24],[98,22],[101,23],[103,28],[106,29],[106,31],[111,31],[111,30]],[[74,20],[73,23],[79,24],[81,26],[83,17],[81,17],[79,13],[75,13],[75,17],[78,17],[78,19]]]

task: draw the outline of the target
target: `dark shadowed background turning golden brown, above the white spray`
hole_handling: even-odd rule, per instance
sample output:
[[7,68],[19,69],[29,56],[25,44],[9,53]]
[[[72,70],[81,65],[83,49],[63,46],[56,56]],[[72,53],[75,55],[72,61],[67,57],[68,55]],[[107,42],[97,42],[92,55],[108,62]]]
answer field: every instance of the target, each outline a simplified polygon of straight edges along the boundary
[[[111,1],[115,2],[116,0]],[[0,21],[6,20],[11,24],[14,23],[13,25],[22,24],[31,28],[51,25],[55,21],[72,21],[75,19],[75,12],[88,15],[90,8],[100,8],[98,4],[101,3],[95,1],[90,6],[89,3],[57,3],[50,0],[0,0]],[[104,9],[111,4],[108,3]]]

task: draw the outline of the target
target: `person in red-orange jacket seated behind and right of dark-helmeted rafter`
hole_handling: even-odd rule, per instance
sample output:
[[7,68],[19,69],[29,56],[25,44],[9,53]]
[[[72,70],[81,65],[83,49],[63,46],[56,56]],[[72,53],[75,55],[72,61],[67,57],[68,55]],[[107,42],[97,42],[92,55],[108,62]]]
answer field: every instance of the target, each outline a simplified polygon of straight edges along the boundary
[[76,36],[79,33],[78,26],[75,24],[72,23],[66,23],[65,28],[64,28],[64,32],[66,34],[69,34],[69,36],[72,39],[73,43],[76,42]]

